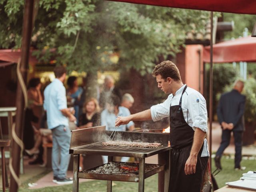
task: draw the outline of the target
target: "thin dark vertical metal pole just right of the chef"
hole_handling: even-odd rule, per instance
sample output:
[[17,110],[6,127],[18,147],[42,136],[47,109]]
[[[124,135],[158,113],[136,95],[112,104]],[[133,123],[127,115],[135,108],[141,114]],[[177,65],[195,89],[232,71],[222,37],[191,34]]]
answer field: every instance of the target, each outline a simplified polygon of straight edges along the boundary
[[211,41],[210,41],[210,106],[209,106],[209,121],[210,121],[210,169],[212,171],[212,92],[213,92],[213,64],[212,64],[212,30],[213,30],[213,12],[211,11]]

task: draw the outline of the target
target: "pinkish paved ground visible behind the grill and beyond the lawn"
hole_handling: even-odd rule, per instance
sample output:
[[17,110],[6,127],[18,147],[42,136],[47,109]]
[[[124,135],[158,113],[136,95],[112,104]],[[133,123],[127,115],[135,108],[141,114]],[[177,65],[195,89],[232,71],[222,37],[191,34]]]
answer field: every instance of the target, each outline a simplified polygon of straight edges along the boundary
[[[220,144],[221,137],[221,128],[220,125],[216,122],[213,123],[212,126],[212,152],[216,152]],[[231,140],[230,146],[226,148],[224,154],[234,157],[234,140]],[[251,146],[243,146],[242,154],[245,156],[244,158],[256,158],[256,144]],[[27,182],[31,178],[35,178],[36,176],[43,174],[47,171],[46,168],[39,167],[38,165],[28,165],[28,159],[24,160],[24,174],[20,175],[20,179],[22,182]],[[146,158],[146,163],[157,163],[157,156],[152,156],[150,158]],[[68,177],[72,177],[72,171],[68,171]],[[58,186],[52,182],[52,172],[46,174],[42,178],[39,178],[34,186],[31,186],[30,189],[35,188],[44,188],[46,186]],[[80,179],[80,182],[86,182],[86,179]],[[0,179],[0,183],[2,183],[2,177]],[[2,187],[2,185],[0,185]]]

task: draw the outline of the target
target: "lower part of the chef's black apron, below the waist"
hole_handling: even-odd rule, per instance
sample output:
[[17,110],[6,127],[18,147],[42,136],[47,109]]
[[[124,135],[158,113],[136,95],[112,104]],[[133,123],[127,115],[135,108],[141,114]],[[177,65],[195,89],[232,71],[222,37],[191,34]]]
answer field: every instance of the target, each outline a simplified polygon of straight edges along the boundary
[[184,169],[190,150],[191,146],[172,149],[169,192],[200,192],[209,157],[200,157],[202,153],[202,150],[200,150],[196,173],[186,175]]

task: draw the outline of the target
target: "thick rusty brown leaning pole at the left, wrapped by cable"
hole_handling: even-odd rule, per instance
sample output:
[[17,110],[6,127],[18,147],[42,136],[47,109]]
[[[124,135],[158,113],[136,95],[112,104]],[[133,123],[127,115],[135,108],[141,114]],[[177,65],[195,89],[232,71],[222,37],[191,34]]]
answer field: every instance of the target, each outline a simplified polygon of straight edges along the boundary
[[[24,7],[23,25],[22,25],[22,45],[21,45],[21,60],[20,60],[20,72],[24,80],[27,79],[28,59],[29,59],[29,47],[32,34],[32,18],[33,18],[34,0],[26,0]],[[22,94],[22,88],[18,83],[16,92],[16,126],[15,132],[19,138],[22,136],[22,127],[24,119],[24,96]],[[19,177],[20,175],[20,146],[12,140],[12,166],[14,172]],[[17,192],[18,184],[11,175],[10,192]]]

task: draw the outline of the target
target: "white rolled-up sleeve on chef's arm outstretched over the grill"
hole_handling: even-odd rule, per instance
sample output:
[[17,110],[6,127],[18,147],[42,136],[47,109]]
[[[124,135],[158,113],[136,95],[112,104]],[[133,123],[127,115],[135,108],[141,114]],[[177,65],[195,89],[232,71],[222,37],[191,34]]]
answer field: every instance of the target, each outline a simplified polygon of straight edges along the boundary
[[170,115],[170,104],[172,94],[161,104],[153,105],[150,108],[151,116],[153,121],[161,120],[162,118]]

